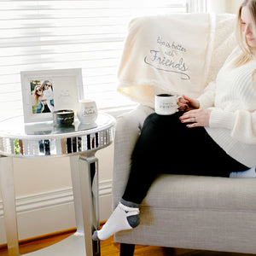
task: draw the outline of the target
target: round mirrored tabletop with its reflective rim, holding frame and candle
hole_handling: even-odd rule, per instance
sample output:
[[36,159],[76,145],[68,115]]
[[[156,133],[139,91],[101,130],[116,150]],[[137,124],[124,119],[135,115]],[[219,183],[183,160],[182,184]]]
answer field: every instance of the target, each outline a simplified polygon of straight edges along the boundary
[[99,113],[93,124],[55,126],[51,122],[24,123],[23,117],[0,123],[0,154],[16,157],[80,154],[107,147],[113,142],[115,119]]

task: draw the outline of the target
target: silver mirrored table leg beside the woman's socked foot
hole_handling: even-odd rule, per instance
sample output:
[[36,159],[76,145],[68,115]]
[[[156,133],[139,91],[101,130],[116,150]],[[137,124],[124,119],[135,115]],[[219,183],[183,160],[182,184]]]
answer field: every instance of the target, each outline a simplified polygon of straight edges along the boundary
[[100,241],[91,239],[99,229],[98,160],[94,154],[80,155],[79,179],[86,256],[100,256]]

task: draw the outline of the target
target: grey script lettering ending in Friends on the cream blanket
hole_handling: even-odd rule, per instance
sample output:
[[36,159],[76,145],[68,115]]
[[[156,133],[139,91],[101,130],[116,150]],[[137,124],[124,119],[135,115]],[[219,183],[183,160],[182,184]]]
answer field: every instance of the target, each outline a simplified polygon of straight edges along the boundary
[[158,37],[155,49],[150,49],[149,54],[144,57],[144,62],[164,72],[177,73],[180,79],[189,80],[189,67],[185,62],[187,49],[182,44],[168,42]]

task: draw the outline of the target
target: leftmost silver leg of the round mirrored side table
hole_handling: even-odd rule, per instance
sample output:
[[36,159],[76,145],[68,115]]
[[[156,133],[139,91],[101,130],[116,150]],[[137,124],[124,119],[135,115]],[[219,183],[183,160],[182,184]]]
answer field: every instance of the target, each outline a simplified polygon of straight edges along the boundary
[[0,188],[9,256],[19,256],[17,214],[15,205],[14,168],[12,157],[0,155]]

